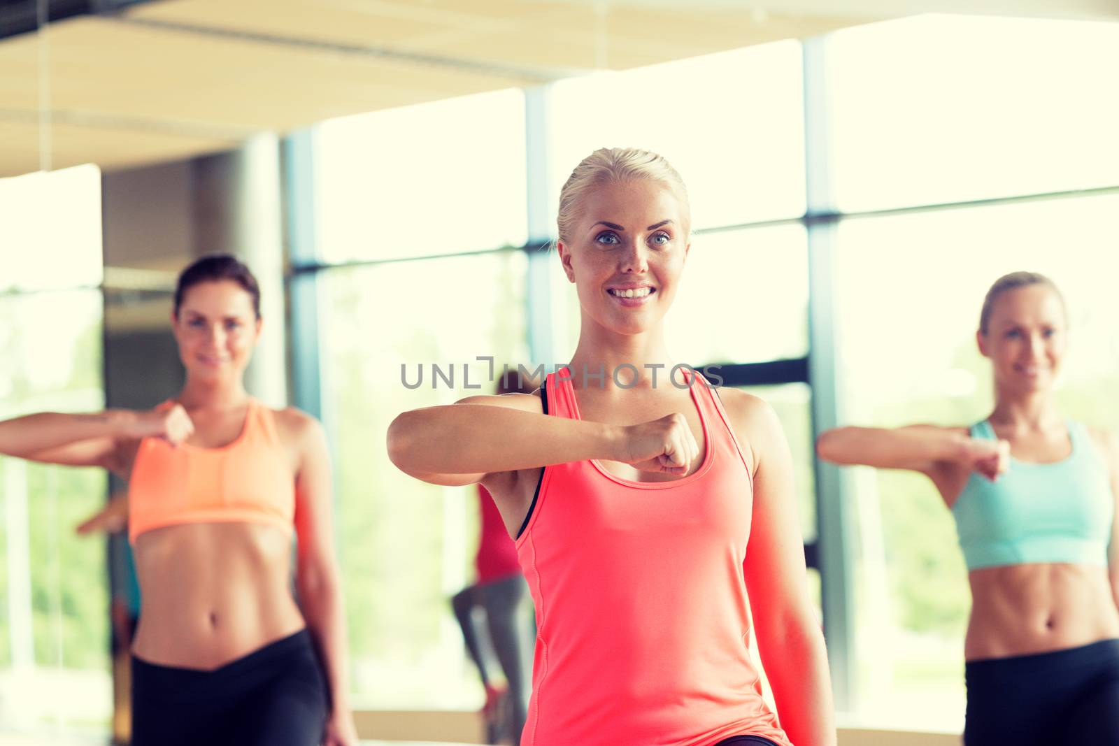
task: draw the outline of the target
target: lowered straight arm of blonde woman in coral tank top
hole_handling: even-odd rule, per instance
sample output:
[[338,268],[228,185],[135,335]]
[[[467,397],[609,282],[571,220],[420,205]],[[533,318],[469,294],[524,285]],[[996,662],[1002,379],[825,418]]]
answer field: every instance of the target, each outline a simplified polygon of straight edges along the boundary
[[834,746],[828,657],[808,598],[789,445],[777,415],[763,400],[737,390],[721,396],[754,460],[752,526],[743,570],[758,651],[778,717],[797,746]]

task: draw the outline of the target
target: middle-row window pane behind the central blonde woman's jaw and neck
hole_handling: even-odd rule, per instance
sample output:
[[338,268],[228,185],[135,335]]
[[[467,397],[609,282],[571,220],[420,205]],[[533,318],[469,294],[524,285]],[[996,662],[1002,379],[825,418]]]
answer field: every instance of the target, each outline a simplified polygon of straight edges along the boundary
[[[580,306],[553,252],[552,315],[560,361],[579,342]],[[764,323],[758,320],[764,319]],[[799,225],[695,236],[665,318],[668,349],[702,367],[808,352],[808,242]]]

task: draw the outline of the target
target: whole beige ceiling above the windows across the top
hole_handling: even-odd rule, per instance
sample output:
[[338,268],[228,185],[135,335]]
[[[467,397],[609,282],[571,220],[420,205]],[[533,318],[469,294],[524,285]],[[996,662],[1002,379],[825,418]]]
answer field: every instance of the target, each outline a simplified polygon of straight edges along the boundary
[[[0,39],[0,176],[45,163],[95,162],[113,170],[180,160],[233,148],[262,130],[284,132],[346,114],[809,37],[918,11],[994,12],[996,4],[143,2]],[[1015,12],[1116,19],[1119,0],[1023,0]]]

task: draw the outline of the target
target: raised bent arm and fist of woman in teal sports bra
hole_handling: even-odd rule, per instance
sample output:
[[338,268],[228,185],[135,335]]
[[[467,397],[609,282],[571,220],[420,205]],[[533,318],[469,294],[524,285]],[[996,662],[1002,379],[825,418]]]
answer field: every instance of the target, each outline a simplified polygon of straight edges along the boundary
[[995,479],[1009,466],[1010,447],[1006,441],[970,437],[961,427],[836,427],[817,438],[816,454],[837,464],[908,469],[930,476],[946,465],[965,466]]

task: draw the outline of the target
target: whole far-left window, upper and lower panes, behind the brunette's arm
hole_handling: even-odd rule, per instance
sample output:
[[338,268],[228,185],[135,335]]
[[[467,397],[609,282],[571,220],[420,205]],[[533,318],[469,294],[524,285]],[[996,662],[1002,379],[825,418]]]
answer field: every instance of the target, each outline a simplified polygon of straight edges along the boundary
[[[93,167],[0,180],[2,419],[104,406],[100,190]],[[105,730],[105,545],[74,533],[104,499],[100,470],[0,457],[0,734]]]

